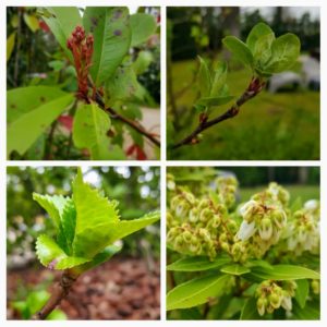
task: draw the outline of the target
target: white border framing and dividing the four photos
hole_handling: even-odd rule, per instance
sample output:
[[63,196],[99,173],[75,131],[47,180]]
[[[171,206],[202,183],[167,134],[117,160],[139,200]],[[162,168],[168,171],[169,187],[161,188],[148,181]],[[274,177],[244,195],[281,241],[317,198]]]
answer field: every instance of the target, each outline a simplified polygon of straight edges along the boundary
[[[186,320],[186,322],[173,322],[166,320],[166,168],[173,166],[319,166],[320,167],[320,202],[322,202],[322,304],[320,304],[320,320],[317,322],[305,322],[305,320],[265,320],[266,326],[275,326],[279,324],[280,326],[326,326],[327,314],[324,308],[327,308],[326,293],[326,274],[327,274],[327,258],[326,258],[326,246],[327,240],[324,238],[324,231],[327,231],[326,221],[326,203],[327,199],[327,132],[324,129],[324,122],[327,122],[327,113],[324,107],[327,105],[327,89],[326,89],[326,75],[327,65],[325,63],[326,59],[322,60],[322,90],[320,90],[320,160],[317,161],[245,161],[245,160],[231,160],[231,161],[173,161],[166,160],[166,8],[167,7],[223,7],[223,5],[240,5],[240,7],[274,7],[277,5],[288,5],[288,7],[320,7],[320,51],[322,58],[326,58],[326,22],[327,22],[327,1],[317,0],[289,0],[280,1],[275,0],[243,0],[243,1],[229,1],[229,0],[21,0],[21,1],[10,1],[1,0],[0,3],[0,62],[1,62],[1,80],[0,80],[0,326],[35,326],[37,324],[49,324],[51,326],[135,326],[135,327],[146,327],[146,326],[187,326],[195,327],[201,324],[201,322]],[[142,7],[142,5],[157,5],[161,8],[161,106],[160,106],[160,132],[161,132],[161,156],[160,160],[153,161],[8,161],[5,158],[5,88],[7,88],[7,77],[5,77],[5,7],[15,5],[131,5],[131,7]],[[323,142],[325,140],[325,143]],[[5,252],[5,232],[7,232],[7,167],[10,166],[157,166],[160,167],[161,178],[160,178],[160,207],[161,207],[161,319],[160,320],[66,320],[66,322],[17,322],[17,320],[7,320],[7,252]],[[199,324],[198,324],[199,323]],[[206,320],[206,326],[263,326],[263,322],[235,322],[235,320]]]

